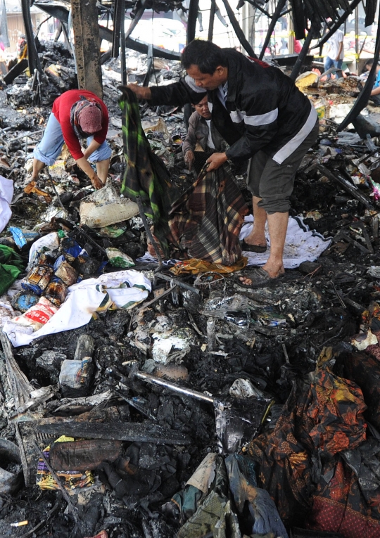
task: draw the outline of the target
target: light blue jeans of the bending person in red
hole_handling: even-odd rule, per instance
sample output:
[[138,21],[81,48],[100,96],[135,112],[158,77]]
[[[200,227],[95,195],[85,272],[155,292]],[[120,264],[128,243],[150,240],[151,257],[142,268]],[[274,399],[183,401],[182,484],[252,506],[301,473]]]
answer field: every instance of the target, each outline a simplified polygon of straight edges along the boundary
[[[94,140],[94,136],[89,136],[87,139],[87,146]],[[36,148],[34,148],[34,158],[42,161],[47,166],[51,166],[56,162],[56,159],[61,155],[62,146],[64,143],[61,124],[56,117],[51,113],[49,120],[46,124],[44,136],[42,141]],[[99,162],[101,160],[107,160],[111,155],[110,146],[108,146],[105,140],[101,146],[94,153],[89,156],[89,162]]]

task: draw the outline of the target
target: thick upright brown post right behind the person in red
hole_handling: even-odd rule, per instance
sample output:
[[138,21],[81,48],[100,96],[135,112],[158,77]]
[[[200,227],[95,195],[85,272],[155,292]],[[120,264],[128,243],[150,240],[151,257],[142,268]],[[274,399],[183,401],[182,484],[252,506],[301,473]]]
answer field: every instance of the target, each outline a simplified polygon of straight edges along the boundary
[[96,2],[71,0],[78,86],[103,98],[101,55]]

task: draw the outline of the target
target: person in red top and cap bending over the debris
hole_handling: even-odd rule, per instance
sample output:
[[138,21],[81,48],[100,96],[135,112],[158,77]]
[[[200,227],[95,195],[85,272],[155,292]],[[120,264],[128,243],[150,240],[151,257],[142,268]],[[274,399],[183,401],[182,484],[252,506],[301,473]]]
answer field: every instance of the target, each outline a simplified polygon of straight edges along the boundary
[[[34,149],[31,180],[37,181],[45,166],[54,164],[63,142],[72,158],[95,188],[106,183],[111,150],[106,141],[108,110],[101,99],[88,90],[69,90],[56,98],[42,141]],[[82,151],[81,140],[87,139]],[[90,162],[96,163],[96,172]]]

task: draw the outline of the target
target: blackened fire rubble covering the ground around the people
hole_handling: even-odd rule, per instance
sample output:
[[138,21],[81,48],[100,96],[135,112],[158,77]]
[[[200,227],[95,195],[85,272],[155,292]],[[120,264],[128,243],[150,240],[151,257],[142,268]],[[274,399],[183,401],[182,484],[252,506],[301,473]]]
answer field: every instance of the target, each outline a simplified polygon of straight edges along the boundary
[[[65,69],[70,70],[72,65],[64,54],[58,55],[56,45],[50,50],[48,44],[41,47],[46,60],[42,93],[52,101],[63,90],[61,82],[68,84],[64,89],[71,87]],[[137,53],[131,54],[137,60],[131,75],[139,80],[141,72],[144,74],[144,60]],[[167,63],[170,69],[157,70],[157,75],[175,79],[179,68]],[[46,73],[49,65],[57,64],[65,69],[60,72],[57,68],[51,71],[53,75]],[[104,99],[110,110],[108,139],[113,149],[110,185],[118,194],[125,167],[116,102],[120,73],[116,60],[110,60],[103,69]],[[59,84],[54,78],[57,74]],[[319,99],[319,104],[329,95],[332,104],[322,103],[328,114],[334,105],[353,103],[350,93],[354,84],[346,85],[342,90],[339,83],[335,93],[332,83],[329,89],[319,84],[318,89],[312,87],[308,92],[316,102]],[[23,89],[23,84],[13,88],[19,88],[13,90],[14,95],[30,91],[28,85]],[[30,345],[10,346],[11,356],[2,356],[0,437],[18,445],[20,457],[14,455],[13,445],[0,444],[0,454],[4,454],[1,469],[9,479],[6,489],[0,473],[1,536],[84,538],[107,530],[108,536],[115,538],[173,537],[180,528],[182,536],[222,536],[225,534],[217,532],[225,528],[233,537],[263,534],[268,530],[257,526],[262,506],[274,509],[272,521],[278,517],[265,490],[274,499],[289,535],[377,536],[378,516],[373,508],[380,503],[376,430],[380,181],[376,136],[360,139],[354,129],[338,134],[336,124],[327,118],[318,143],[300,167],[292,214],[301,215],[310,229],[332,239],[319,259],[288,269],[286,278],[269,288],[243,287],[236,274],[217,280],[208,275],[177,276],[186,289],[175,286],[175,281],[155,278],[157,264],[137,261],[146,251],[146,232],[138,214],[100,231],[88,226],[78,229],[72,224],[80,223],[81,200],[92,188],[68,155],[63,154],[49,170],[63,208],[47,174],[25,192],[34,142],[29,139],[25,152],[25,139],[20,137],[42,128],[51,101],[34,106],[32,94],[30,102],[22,103],[8,88],[0,95],[1,175],[13,179],[15,186],[8,228],[22,229],[26,243],[19,247],[17,233],[11,234],[6,228],[0,247],[14,248],[26,268],[32,243],[40,236],[58,232],[59,244],[45,253],[46,264],[65,255],[68,265],[86,281],[97,278],[99,270],[108,274],[126,268],[109,263],[102,268],[107,261],[104,251],[115,248],[132,258],[132,269],[153,282],[146,300],[132,309],[97,312],[96,319],[80,328],[47,335]],[[368,110],[370,117],[377,119],[374,108],[369,105]],[[186,133],[182,111],[143,106],[141,116],[144,129],[153,127],[148,134],[152,148],[163,158],[179,192],[184,192],[194,176],[182,160],[179,137]],[[237,181],[249,204],[244,177]],[[88,256],[75,251],[78,245],[79,252],[83,248]],[[121,255],[118,259],[118,263],[126,260]],[[25,278],[26,272],[19,278]],[[165,267],[161,272],[170,275]],[[1,324],[5,317],[25,312],[20,293],[19,286],[11,295],[1,297]],[[14,313],[9,314],[11,308]],[[69,397],[57,386],[61,364],[74,362],[84,335],[94,342],[94,350],[86,355],[91,357],[92,366],[86,370],[82,392]],[[138,372],[153,376],[161,384],[148,383]],[[13,386],[25,389],[24,395],[20,389],[24,399],[17,404],[10,380]],[[189,394],[180,394],[167,381]],[[339,390],[344,395],[342,405],[336,397]],[[25,391],[31,391],[32,398]],[[205,399],[194,397],[191,391],[201,392]],[[324,409],[325,394],[334,403],[334,412],[329,410],[335,417],[331,421],[335,429],[327,424],[331,416]],[[265,414],[268,404],[270,409]],[[365,404],[369,406],[367,411]],[[308,414],[308,409],[312,413]],[[246,430],[241,428],[241,418]],[[130,423],[133,427],[128,429]],[[65,425],[70,428],[65,430]],[[84,435],[91,431],[96,435]],[[49,470],[39,461],[34,442],[39,449],[46,449],[61,434],[71,434],[77,440],[74,433],[89,438],[86,448],[70,442],[65,451],[59,447],[63,443],[55,443],[50,460],[52,464],[62,462],[62,468],[56,468],[62,471],[58,480],[73,488],[73,508],[68,508]],[[144,435],[147,439],[141,440]],[[111,444],[91,443],[99,438]],[[291,443],[284,449],[281,443],[289,439]],[[270,451],[271,446],[277,447],[276,451]],[[227,456],[230,447],[234,454]],[[243,455],[238,456],[240,449]],[[89,450],[94,465],[89,463]],[[70,463],[83,461],[84,454],[86,474],[80,467],[79,476],[70,476],[70,469],[77,470]],[[212,468],[210,482],[201,489],[199,479],[193,477],[186,485],[205,458]],[[365,464],[359,469],[357,462],[362,461]],[[282,462],[292,469],[290,475]],[[270,475],[274,467],[275,474]],[[22,476],[27,486],[18,486]],[[353,489],[345,489],[338,496],[340,477],[346,477],[345,483]],[[298,489],[293,482],[296,478],[300,480]],[[36,480],[54,490],[41,489]],[[368,480],[372,489],[363,485]],[[17,491],[12,493],[13,488]],[[296,494],[291,493],[296,489]],[[360,491],[356,497],[354,489]],[[175,503],[170,501],[173,496]],[[255,504],[255,497],[262,504]],[[337,498],[336,513],[325,517],[325,507]],[[203,534],[200,527],[194,531],[201,501],[203,507],[213,506],[215,516],[203,520]],[[343,510],[343,505],[351,512]],[[369,505],[372,514],[367,511]],[[352,513],[369,518],[365,520],[367,526],[355,527],[357,519],[348,520]],[[24,520],[27,525],[11,527],[11,523]],[[210,534],[215,521],[217,530]],[[280,527],[275,528],[279,531]],[[368,528],[373,534],[365,534]]]

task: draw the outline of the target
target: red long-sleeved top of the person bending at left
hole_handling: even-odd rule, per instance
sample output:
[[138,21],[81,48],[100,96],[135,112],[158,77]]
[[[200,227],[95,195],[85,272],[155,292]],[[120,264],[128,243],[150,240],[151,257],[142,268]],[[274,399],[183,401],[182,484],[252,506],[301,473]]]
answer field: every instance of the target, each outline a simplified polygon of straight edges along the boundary
[[108,110],[106,105],[99,99],[98,96],[88,90],[69,90],[64,94],[56,98],[53,103],[53,110],[51,112],[56,117],[56,120],[61,124],[63,139],[66,146],[70,151],[72,157],[75,160],[81,159],[83,153],[81,150],[80,141],[77,139],[77,135],[71,124],[70,113],[74,103],[80,101],[81,96],[94,98],[99,105],[101,105],[101,131],[98,131],[94,139],[98,143],[103,143],[106,140],[108,132]]

